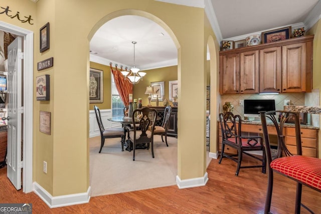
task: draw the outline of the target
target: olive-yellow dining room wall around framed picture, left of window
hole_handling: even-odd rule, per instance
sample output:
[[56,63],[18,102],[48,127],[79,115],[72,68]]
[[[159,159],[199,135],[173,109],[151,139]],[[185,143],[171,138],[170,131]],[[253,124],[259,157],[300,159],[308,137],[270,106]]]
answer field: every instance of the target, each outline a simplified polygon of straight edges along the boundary
[[110,66],[102,65],[99,63],[90,62],[90,68],[102,70],[103,72],[103,102],[102,103],[90,103],[89,110],[94,110],[94,105],[99,109],[111,108],[111,72]]

